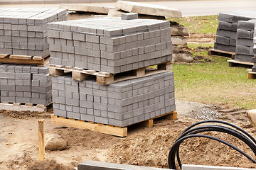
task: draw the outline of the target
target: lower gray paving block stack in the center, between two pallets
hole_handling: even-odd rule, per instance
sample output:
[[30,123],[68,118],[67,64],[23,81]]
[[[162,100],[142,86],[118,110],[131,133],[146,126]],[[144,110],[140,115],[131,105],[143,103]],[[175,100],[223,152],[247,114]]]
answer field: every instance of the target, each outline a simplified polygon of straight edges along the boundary
[[176,110],[174,72],[97,84],[53,77],[54,114],[65,118],[124,127]]

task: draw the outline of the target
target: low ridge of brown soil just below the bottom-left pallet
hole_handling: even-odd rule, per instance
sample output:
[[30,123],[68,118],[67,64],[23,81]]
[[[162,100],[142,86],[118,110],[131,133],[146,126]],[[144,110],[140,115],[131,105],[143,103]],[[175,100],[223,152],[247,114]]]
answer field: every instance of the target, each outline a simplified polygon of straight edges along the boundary
[[35,111],[5,111],[0,110],[0,114],[9,115],[12,118],[50,118],[50,113],[47,112],[35,112]]

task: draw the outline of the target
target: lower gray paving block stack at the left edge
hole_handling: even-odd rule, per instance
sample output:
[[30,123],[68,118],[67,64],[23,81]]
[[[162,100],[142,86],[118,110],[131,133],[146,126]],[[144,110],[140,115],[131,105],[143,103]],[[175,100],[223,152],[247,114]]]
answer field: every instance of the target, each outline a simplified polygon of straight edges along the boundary
[[48,66],[0,64],[1,102],[47,105],[52,101]]

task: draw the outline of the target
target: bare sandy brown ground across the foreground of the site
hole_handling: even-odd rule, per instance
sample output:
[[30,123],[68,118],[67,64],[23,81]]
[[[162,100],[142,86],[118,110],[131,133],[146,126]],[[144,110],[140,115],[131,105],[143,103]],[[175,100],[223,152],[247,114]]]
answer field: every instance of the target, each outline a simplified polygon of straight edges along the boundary
[[[72,169],[88,159],[167,168],[169,149],[174,141],[189,125],[202,119],[224,118],[256,137],[256,130],[250,127],[243,111],[221,113],[219,111],[225,110],[225,106],[220,108],[188,101],[176,101],[176,105],[178,120],[160,118],[154,121],[153,128],[134,125],[129,128],[128,136],[124,138],[52,125],[49,113],[1,111],[0,169],[43,169],[48,164],[59,169]],[[46,120],[46,133],[58,133],[68,140],[68,149],[46,150],[47,162],[43,166],[37,162],[38,119],[41,118]],[[210,135],[220,137],[252,155],[250,149],[234,137],[219,135],[218,132]],[[186,140],[181,147],[181,161],[186,164],[256,168],[255,164],[233,149],[204,139]]]

